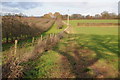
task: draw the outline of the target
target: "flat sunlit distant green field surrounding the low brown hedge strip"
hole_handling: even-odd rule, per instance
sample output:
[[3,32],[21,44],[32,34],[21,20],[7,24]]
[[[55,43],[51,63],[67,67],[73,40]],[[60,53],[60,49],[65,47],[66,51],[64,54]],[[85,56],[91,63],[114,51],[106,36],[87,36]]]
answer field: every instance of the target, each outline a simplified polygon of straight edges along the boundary
[[118,23],[118,20],[70,20],[74,34],[118,35],[118,26],[77,26],[77,23]]

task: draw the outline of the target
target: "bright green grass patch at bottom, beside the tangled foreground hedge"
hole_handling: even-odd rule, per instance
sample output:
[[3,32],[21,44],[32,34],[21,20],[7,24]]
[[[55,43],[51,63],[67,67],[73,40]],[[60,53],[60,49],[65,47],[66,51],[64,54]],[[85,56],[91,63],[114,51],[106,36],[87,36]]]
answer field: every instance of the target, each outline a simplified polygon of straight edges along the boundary
[[59,62],[59,54],[52,50],[42,54],[39,59],[27,63],[31,65],[31,69],[25,72],[24,78],[50,77],[50,71],[54,71],[54,67],[58,66],[56,63]]

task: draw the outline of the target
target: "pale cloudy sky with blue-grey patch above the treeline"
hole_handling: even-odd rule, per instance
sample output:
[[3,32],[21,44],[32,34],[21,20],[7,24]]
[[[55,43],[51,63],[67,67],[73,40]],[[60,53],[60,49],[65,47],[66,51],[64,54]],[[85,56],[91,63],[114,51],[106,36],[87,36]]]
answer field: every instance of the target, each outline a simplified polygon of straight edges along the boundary
[[119,0],[4,0],[0,4],[0,13],[42,16],[49,12],[60,12],[63,15],[95,15],[108,11],[118,14],[118,2]]

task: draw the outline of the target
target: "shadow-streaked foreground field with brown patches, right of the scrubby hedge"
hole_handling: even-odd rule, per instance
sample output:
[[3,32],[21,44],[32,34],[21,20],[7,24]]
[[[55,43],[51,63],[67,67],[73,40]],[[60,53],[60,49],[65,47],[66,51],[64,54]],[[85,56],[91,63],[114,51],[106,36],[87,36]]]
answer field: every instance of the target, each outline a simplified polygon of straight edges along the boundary
[[32,61],[34,68],[25,77],[117,77],[117,40],[117,36],[69,35]]

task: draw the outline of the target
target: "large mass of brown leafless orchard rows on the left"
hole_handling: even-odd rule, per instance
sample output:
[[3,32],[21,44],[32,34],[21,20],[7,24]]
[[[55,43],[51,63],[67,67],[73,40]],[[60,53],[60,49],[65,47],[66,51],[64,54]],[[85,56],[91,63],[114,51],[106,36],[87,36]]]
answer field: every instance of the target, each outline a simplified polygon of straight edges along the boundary
[[36,36],[48,30],[54,23],[52,19],[29,19],[13,15],[3,16],[2,37],[6,39],[6,42]]

